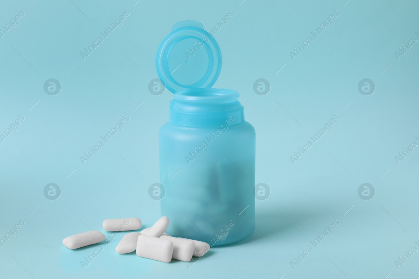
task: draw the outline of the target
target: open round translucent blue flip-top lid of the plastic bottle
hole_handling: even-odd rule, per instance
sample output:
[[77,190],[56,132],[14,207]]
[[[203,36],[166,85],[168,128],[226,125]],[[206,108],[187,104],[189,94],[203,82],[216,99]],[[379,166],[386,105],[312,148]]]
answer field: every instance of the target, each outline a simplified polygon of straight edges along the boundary
[[220,46],[201,23],[181,21],[158,46],[155,67],[160,80],[172,93],[209,88],[220,75]]

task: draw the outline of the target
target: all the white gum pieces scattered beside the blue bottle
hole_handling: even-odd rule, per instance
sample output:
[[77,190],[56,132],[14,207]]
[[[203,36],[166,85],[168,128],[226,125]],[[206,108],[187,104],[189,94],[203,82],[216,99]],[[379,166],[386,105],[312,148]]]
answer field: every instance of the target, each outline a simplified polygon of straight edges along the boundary
[[[137,256],[163,261],[171,259],[190,261],[192,256],[203,256],[209,250],[209,244],[181,237],[173,237],[165,233],[169,225],[166,216],[160,218],[151,228],[139,233],[127,233],[116,246],[115,251],[120,254],[131,253],[135,250]],[[141,228],[139,218],[107,219],[103,221],[106,231],[138,230]],[[71,235],[63,239],[62,244],[67,248],[77,249],[105,240],[105,235],[97,230]]]

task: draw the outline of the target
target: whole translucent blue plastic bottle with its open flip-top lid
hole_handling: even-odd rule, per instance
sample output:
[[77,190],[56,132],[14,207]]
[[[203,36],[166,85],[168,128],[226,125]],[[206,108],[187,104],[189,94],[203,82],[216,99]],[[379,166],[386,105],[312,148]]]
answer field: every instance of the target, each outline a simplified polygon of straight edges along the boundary
[[166,232],[211,246],[243,240],[255,227],[256,134],[238,92],[211,88],[221,69],[217,42],[196,21],[176,23],[156,69],[175,93],[159,132]]

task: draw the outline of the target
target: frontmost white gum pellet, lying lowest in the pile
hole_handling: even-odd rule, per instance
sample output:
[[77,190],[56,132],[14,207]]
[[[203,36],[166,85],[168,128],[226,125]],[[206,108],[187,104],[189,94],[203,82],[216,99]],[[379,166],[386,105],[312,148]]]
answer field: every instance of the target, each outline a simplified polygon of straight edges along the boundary
[[136,253],[143,258],[168,263],[173,255],[173,242],[141,234],[138,236]]

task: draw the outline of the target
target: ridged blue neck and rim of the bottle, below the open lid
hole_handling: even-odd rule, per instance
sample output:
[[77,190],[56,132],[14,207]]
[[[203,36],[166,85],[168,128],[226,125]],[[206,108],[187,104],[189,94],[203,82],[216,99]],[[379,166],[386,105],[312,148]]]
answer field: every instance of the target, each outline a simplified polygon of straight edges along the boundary
[[[198,88],[178,91],[170,102],[170,123],[187,127],[211,127],[244,121],[244,109],[235,90]],[[227,122],[226,122],[227,121]]]

